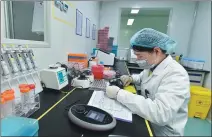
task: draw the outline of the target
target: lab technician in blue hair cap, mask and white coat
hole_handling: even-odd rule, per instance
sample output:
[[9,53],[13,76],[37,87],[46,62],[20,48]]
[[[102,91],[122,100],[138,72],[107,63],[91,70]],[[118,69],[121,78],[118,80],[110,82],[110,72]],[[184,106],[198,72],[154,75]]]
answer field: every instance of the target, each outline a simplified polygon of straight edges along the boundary
[[183,136],[188,116],[190,82],[186,70],[169,55],[176,42],[166,34],[145,28],[130,40],[139,75],[121,76],[125,86],[141,86],[141,95],[108,86],[108,97],[121,102],[134,114],[149,120],[156,136]]

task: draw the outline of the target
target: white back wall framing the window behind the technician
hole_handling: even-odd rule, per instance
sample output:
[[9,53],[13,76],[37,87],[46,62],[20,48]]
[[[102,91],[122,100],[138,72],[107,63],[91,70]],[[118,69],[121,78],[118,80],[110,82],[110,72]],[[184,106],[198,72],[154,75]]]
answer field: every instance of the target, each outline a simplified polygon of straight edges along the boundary
[[176,1],[114,1],[103,2],[100,11],[100,27],[109,26],[111,37],[117,44],[120,26],[120,8],[172,8],[170,36],[178,42],[176,53],[187,54],[195,2]]

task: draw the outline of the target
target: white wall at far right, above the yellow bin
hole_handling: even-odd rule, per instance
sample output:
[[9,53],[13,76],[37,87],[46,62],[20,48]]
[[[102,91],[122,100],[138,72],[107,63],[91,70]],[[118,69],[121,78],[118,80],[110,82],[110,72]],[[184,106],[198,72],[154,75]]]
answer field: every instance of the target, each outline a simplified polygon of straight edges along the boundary
[[[206,61],[204,69],[211,71],[211,2],[200,2],[197,11],[189,57]],[[211,73],[207,76],[205,87],[211,89]]]

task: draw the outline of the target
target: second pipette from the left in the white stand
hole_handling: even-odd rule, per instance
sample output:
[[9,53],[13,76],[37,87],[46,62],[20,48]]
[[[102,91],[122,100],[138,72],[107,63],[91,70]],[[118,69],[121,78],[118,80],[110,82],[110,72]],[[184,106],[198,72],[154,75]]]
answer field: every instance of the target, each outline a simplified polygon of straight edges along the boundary
[[18,75],[18,67],[17,67],[17,64],[16,64],[16,61],[12,55],[12,52],[11,51],[6,51],[6,55],[7,55],[7,58],[8,58],[8,62],[9,62],[9,65],[12,69],[12,72],[14,73],[14,75]]

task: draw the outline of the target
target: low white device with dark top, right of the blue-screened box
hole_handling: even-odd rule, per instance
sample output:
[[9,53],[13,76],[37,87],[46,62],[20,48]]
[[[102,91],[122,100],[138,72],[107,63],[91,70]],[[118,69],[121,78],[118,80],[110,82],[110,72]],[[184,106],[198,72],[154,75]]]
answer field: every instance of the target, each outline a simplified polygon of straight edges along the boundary
[[72,86],[77,88],[90,87],[90,80],[84,74],[81,74],[79,77],[74,78],[72,83]]

